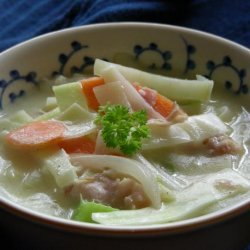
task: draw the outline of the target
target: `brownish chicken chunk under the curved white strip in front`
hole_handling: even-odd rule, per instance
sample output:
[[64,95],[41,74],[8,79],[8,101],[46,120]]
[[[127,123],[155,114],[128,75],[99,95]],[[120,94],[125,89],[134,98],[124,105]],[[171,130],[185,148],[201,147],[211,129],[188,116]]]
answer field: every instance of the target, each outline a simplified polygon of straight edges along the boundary
[[120,176],[110,169],[80,178],[69,193],[76,198],[81,195],[88,201],[119,209],[138,209],[150,205],[140,183],[131,177]]

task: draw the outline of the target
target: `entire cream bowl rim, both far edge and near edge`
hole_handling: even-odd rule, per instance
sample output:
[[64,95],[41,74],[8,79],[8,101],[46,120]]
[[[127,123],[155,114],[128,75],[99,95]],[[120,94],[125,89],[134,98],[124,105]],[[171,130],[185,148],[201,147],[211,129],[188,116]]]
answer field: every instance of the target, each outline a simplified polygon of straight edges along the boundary
[[[58,31],[48,32],[21,42],[15,46],[8,48],[0,53],[0,57],[7,55],[13,50],[17,50],[22,46],[29,45],[30,43],[40,41],[41,39],[48,39],[53,36],[62,35],[68,32],[78,32],[81,30],[92,30],[92,29],[113,29],[113,28],[158,28],[171,31],[179,31],[184,33],[192,33],[197,37],[206,37],[207,39],[214,40],[215,42],[225,43],[228,46],[233,46],[243,52],[250,52],[247,47],[228,40],[226,38],[176,25],[168,25],[161,23],[146,23],[146,22],[112,22],[112,23],[98,23],[82,25],[72,28],[66,28]],[[250,55],[250,54],[249,54]],[[0,208],[4,209],[11,214],[14,214],[20,218],[26,219],[30,222],[38,223],[40,225],[49,226],[52,228],[61,229],[69,232],[76,232],[81,234],[91,234],[91,235],[102,235],[102,236],[154,236],[154,235],[166,235],[166,234],[177,234],[189,231],[194,231],[207,226],[215,225],[220,222],[225,222],[233,217],[240,216],[241,214],[250,210],[250,200],[246,199],[244,201],[238,202],[237,204],[230,206],[230,208],[223,208],[218,211],[202,215],[199,217],[181,220],[177,222],[157,224],[152,226],[107,226],[100,224],[77,222],[68,219],[58,218],[50,215],[45,215],[36,211],[32,211],[29,208],[25,208],[13,201],[10,201],[4,197],[0,197]]]

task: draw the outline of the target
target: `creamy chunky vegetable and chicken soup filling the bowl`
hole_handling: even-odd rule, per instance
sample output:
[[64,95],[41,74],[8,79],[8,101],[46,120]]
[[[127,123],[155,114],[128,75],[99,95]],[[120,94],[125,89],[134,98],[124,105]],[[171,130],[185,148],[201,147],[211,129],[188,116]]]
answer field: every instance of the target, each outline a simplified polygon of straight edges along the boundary
[[[213,81],[96,60],[1,114],[0,194],[88,223],[152,225],[250,196],[250,115]],[[51,86],[52,83],[52,86]]]

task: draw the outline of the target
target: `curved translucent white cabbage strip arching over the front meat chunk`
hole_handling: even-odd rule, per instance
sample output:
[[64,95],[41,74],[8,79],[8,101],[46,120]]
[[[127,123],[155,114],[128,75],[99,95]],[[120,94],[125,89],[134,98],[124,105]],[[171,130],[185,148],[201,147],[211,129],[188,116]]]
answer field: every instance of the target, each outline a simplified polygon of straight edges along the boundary
[[71,161],[78,168],[103,169],[111,168],[118,173],[132,176],[139,181],[153,207],[160,207],[160,192],[155,174],[139,162],[111,155],[72,155]]

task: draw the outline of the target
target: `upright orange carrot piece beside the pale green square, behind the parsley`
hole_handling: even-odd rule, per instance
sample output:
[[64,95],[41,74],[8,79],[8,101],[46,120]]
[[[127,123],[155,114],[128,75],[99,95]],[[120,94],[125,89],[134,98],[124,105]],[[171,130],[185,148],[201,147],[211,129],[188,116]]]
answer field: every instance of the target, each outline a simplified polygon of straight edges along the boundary
[[100,85],[103,85],[104,79],[101,77],[91,77],[91,78],[87,78],[82,80],[82,88],[83,88],[83,93],[85,94],[86,98],[87,98],[87,102],[88,102],[88,106],[97,111],[99,108],[99,103],[95,97],[95,93],[94,93],[94,88]]

